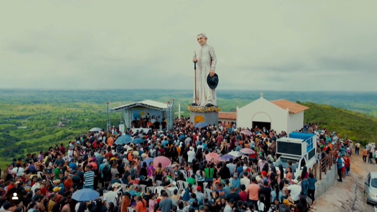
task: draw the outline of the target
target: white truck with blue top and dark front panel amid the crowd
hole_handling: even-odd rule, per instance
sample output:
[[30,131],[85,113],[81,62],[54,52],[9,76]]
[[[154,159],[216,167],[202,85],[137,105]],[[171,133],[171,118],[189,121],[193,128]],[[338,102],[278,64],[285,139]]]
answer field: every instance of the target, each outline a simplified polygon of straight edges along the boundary
[[317,135],[308,133],[291,133],[289,137],[283,137],[276,142],[276,153],[281,156],[276,160],[274,166],[278,169],[281,164],[284,171],[288,167],[288,162],[292,161],[292,166],[296,167],[294,176],[296,179],[301,175],[303,167],[308,171],[317,162]]

